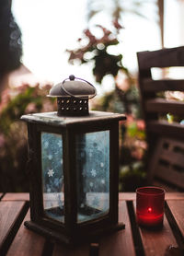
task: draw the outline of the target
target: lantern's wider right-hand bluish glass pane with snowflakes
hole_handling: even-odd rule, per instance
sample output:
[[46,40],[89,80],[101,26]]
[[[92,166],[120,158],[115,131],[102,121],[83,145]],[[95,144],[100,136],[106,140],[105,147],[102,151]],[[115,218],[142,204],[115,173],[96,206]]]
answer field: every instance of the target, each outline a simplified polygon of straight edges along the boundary
[[77,222],[109,212],[109,131],[76,136]]

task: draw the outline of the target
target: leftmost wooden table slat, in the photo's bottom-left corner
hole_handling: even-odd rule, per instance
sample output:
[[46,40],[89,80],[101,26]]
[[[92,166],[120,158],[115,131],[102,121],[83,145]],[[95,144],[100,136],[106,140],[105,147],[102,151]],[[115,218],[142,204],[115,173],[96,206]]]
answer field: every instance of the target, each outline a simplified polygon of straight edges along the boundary
[[14,237],[24,207],[25,202],[0,202],[0,254]]

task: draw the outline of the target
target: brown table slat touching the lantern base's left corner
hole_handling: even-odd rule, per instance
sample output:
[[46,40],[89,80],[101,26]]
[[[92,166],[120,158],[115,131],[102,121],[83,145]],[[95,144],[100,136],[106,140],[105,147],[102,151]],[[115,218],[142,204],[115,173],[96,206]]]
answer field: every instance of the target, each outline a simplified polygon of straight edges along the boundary
[[[30,213],[25,216],[24,221],[30,219]],[[35,232],[24,227],[24,221],[18,229],[6,256],[40,256],[44,248],[45,239]]]

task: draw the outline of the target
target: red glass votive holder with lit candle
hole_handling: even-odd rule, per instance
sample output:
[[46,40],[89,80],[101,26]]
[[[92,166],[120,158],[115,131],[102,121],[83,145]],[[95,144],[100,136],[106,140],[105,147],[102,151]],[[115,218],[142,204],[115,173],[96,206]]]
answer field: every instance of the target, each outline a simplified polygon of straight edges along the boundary
[[136,190],[136,218],[143,227],[162,227],[164,218],[165,190],[143,187]]

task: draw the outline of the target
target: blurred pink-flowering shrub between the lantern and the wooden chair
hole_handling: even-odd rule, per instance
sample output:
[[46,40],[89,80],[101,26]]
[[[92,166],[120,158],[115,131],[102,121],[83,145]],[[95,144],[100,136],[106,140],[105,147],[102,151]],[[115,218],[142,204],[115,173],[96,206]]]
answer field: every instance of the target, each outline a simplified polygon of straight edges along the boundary
[[[109,54],[109,48],[121,43],[119,34],[122,25],[117,16],[112,15],[111,30],[94,25],[101,33],[96,36],[87,28],[78,39],[78,48],[66,50],[71,64],[93,64],[93,75],[100,85],[105,76],[113,77],[113,89],[91,102],[91,109],[125,113],[127,121],[120,125],[120,191],[135,191],[146,182],[144,163],[146,157],[146,137],[141,112],[137,77],[130,74],[123,65],[121,53]],[[93,14],[94,15],[94,14]]]

